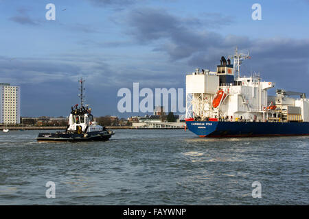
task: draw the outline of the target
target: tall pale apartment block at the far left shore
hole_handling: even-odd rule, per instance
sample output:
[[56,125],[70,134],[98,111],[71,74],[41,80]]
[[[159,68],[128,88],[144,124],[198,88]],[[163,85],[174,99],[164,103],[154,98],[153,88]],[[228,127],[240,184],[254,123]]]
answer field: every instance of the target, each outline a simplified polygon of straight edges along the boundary
[[0,123],[21,123],[21,88],[0,83]]

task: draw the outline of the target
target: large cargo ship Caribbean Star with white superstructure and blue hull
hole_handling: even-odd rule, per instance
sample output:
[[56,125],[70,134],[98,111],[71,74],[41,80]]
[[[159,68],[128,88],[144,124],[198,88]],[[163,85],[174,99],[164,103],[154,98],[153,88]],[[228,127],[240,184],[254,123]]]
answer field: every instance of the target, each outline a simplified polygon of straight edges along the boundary
[[[275,83],[260,74],[241,76],[251,59],[239,53],[221,57],[216,72],[196,68],[186,75],[187,129],[200,137],[308,136],[309,99],[304,92],[268,90]],[[233,64],[231,64],[233,60]]]

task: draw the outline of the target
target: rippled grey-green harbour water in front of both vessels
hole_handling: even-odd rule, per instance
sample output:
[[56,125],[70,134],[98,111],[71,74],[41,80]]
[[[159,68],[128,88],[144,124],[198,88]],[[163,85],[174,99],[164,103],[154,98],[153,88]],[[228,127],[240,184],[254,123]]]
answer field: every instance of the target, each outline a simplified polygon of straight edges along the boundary
[[[0,205],[309,204],[308,136],[117,130],[107,142],[38,143],[38,132],[1,131]],[[56,198],[45,196],[48,181]]]

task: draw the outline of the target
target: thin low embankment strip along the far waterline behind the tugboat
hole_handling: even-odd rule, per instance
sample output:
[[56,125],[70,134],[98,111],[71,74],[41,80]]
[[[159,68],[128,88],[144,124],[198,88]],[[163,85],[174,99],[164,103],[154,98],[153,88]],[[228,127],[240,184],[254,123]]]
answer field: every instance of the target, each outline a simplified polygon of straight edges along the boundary
[[[23,127],[5,127],[0,126],[0,131],[3,129],[9,129],[10,131],[19,131],[19,130],[65,130],[66,126],[51,126],[51,127],[32,127],[32,126],[23,126]],[[184,128],[135,128],[132,126],[106,126],[106,129],[184,129]]]

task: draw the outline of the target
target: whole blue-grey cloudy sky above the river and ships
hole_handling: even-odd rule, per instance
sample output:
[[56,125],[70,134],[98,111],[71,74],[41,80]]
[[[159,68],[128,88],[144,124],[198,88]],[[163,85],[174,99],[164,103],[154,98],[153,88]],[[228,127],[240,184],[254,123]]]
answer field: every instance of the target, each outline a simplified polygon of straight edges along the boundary
[[21,86],[21,116],[69,116],[84,77],[93,114],[122,118],[120,88],[185,88],[238,47],[252,57],[242,75],[309,96],[308,12],[309,0],[0,0],[0,83]]

